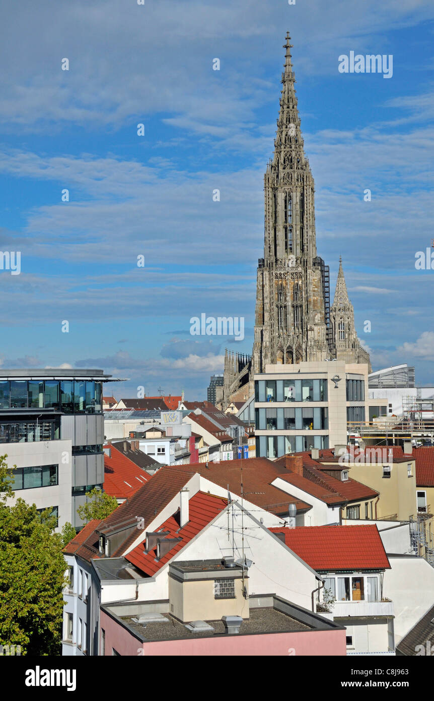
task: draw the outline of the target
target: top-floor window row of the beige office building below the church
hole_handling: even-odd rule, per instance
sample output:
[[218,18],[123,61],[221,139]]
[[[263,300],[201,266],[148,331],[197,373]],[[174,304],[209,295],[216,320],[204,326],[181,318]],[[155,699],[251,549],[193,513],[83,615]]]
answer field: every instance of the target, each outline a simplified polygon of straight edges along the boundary
[[256,380],[255,402],[326,402],[327,380]]

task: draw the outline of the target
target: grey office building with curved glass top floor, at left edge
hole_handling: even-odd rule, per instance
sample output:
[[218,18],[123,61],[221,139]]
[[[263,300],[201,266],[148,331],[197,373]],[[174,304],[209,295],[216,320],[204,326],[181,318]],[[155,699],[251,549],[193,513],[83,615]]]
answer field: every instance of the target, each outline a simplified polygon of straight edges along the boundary
[[104,484],[102,385],[109,381],[94,369],[0,371],[0,453],[16,465],[17,495],[50,506],[59,527],[80,526],[76,508]]

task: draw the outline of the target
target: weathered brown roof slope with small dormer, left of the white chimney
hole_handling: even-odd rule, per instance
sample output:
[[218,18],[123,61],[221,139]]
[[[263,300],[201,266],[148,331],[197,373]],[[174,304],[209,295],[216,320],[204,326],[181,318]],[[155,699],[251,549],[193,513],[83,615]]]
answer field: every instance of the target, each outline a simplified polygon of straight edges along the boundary
[[[127,501],[120,504],[110,516],[95,526],[94,533],[90,536],[91,539],[93,538],[94,543],[96,543],[96,550],[94,552],[98,552],[98,535],[96,529],[104,533],[106,529],[109,531],[116,528],[117,524],[125,523],[129,519],[135,520],[137,517],[143,519],[144,528],[146,529],[153,519],[155,519],[155,516],[158,516],[169,501],[172,501],[174,496],[186,486],[191,477],[191,473],[180,472],[176,467],[164,467],[158,470],[158,472],[155,472],[152,479],[148,479],[148,482],[145,482],[137,492],[127,498]],[[111,554],[111,557],[121,557],[125,550],[134,543],[134,540],[137,538],[137,533],[137,529],[132,530],[123,543],[119,545],[118,549]],[[89,539],[87,543],[89,543]],[[92,557],[95,557],[90,551],[87,552],[87,557],[85,557],[85,555],[86,553],[84,551],[80,551],[80,557],[83,557],[83,559],[91,560]]]

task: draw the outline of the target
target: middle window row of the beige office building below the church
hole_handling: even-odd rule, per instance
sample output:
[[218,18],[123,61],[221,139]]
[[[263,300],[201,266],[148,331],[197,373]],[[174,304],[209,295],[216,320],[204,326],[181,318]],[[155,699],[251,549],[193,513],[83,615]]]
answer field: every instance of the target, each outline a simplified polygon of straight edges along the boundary
[[328,430],[327,407],[255,409],[257,430],[312,431]]

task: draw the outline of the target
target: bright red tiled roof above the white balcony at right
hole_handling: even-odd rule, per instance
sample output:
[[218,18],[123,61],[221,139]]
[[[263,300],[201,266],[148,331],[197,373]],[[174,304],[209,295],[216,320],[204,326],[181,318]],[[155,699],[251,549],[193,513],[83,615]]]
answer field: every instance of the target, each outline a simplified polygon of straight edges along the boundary
[[271,528],[316,571],[390,569],[377,526]]

